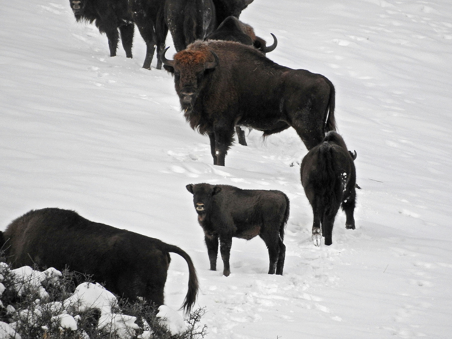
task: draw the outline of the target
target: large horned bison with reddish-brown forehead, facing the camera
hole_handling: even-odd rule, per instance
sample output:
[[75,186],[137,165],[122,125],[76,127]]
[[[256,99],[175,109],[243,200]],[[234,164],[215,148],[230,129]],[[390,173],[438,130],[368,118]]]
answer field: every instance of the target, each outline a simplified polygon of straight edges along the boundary
[[[166,50],[165,50],[166,51]],[[215,165],[233,143],[234,127],[264,132],[290,126],[310,150],[335,130],[334,86],[326,77],[280,66],[254,47],[232,41],[196,41],[165,58],[191,128],[210,138]]]

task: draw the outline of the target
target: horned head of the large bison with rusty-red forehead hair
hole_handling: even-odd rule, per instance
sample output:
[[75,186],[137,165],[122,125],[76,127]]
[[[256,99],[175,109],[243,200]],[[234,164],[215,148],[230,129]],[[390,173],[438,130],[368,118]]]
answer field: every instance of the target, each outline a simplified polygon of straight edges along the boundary
[[[164,68],[174,75],[174,87],[179,95],[182,109],[193,107],[200,90],[205,86],[207,75],[219,64],[218,56],[206,46],[192,44],[174,55],[174,60],[165,58],[166,48],[161,54]],[[212,60],[213,59],[213,60]]]

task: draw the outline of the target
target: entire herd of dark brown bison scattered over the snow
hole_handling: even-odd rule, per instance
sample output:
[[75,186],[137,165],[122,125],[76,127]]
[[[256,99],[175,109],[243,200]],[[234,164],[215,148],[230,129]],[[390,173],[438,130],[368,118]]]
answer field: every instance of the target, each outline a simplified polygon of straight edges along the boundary
[[[77,21],[95,23],[116,55],[121,34],[126,56],[132,58],[134,27],[146,42],[144,68],[150,68],[157,47],[162,64],[174,77],[184,116],[192,129],[210,139],[214,165],[225,155],[241,126],[267,137],[295,129],[308,153],[301,162],[301,184],[312,206],[312,241],[331,245],[338,209],[355,229],[356,152],[348,151],[335,132],[334,86],[326,77],[271,61],[267,46],[238,17],[253,0],[70,0]],[[171,32],[177,53],[165,57]],[[232,238],[262,238],[269,253],[269,274],[283,274],[284,228],[289,199],[278,190],[246,190],[229,185],[189,184],[207,246],[210,269],[216,270],[218,245],[223,275],[230,275]],[[177,246],[93,222],[59,208],[31,210],[0,232],[0,244],[11,265],[36,264],[83,272],[110,291],[133,301],[138,297],[161,305],[170,263],[169,253],[188,264],[189,311],[198,281],[190,257]]]

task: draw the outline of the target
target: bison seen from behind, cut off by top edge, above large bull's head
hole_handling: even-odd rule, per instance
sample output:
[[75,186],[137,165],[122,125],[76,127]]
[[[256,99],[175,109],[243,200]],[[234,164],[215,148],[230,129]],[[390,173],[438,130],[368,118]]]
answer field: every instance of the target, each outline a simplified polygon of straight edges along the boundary
[[163,15],[176,51],[204,39],[217,26],[212,0],[166,0]]

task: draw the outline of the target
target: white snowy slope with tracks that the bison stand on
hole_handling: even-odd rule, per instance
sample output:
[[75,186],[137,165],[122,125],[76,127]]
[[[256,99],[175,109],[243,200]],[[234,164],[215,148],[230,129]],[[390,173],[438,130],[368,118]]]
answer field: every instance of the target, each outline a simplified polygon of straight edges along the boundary
[[[255,0],[242,13],[259,36],[278,38],[269,58],[333,82],[339,132],[358,153],[357,229],[339,212],[333,244],[318,248],[293,130],[265,143],[251,131],[216,167],[171,76],[141,68],[138,31],[134,59],[121,47],[110,58],[106,37],[65,2],[16,0],[0,16],[2,230],[30,209],[60,207],[181,247],[209,339],[452,335],[449,1]],[[229,277],[220,259],[208,270],[185,189],[199,182],[289,196],[283,276],[266,274],[260,239],[233,240]],[[165,304],[177,309],[188,270],[171,259]]]

